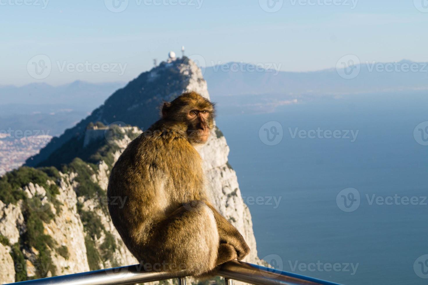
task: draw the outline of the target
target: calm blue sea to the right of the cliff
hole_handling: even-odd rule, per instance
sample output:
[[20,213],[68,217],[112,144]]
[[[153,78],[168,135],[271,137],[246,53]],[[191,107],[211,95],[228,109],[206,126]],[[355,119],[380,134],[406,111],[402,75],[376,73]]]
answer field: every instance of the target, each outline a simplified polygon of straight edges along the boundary
[[[266,133],[259,138],[270,121],[283,128],[277,145],[262,142]],[[413,136],[424,121],[423,93],[324,98],[262,115],[222,114],[220,106],[217,125],[250,207],[259,257],[343,284],[427,284],[416,273],[428,278],[428,261],[416,259],[428,254],[428,146]],[[354,142],[293,139],[296,128],[359,132]],[[345,212],[336,196],[349,187],[357,189],[360,205]],[[391,202],[395,194],[400,198],[392,205],[379,200]],[[402,205],[404,196],[416,196],[418,205]]]

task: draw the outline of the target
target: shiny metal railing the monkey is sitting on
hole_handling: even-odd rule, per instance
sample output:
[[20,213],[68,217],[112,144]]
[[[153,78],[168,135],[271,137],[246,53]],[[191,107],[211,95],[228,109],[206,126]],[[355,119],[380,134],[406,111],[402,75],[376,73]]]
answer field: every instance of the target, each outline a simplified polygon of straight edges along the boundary
[[[135,264],[11,284],[126,285],[178,278],[178,285],[186,285],[186,276],[183,274],[146,271],[140,264]],[[339,285],[333,282],[241,261],[229,261],[223,264],[218,275],[225,278],[226,285],[232,285],[232,280],[238,280],[255,285]]]

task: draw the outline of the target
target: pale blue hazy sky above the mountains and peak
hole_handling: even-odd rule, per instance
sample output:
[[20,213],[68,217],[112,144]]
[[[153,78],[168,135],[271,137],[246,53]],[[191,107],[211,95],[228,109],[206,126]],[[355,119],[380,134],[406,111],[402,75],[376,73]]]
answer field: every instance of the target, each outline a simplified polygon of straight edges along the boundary
[[428,0],[0,0],[0,25],[0,85],[128,81],[181,45],[283,71],[428,61]]

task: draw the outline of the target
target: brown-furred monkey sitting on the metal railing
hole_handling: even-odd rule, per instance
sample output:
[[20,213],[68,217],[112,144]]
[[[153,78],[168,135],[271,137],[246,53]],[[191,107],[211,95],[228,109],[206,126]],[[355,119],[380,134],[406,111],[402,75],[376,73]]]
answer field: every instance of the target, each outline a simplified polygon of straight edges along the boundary
[[[208,141],[214,117],[214,104],[196,92],[184,92],[163,103],[161,118],[129,143],[114,164],[108,209],[140,263],[205,279],[216,275],[221,264],[250,252],[208,198],[196,149]],[[125,205],[111,202],[118,196],[127,198]]]

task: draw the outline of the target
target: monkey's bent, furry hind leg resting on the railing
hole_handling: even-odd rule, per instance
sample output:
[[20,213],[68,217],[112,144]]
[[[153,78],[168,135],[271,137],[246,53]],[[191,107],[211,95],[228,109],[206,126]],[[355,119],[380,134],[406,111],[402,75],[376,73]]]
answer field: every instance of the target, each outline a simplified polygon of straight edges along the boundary
[[165,262],[166,270],[186,270],[189,275],[201,275],[217,264],[220,238],[214,214],[202,201],[191,201],[175,210],[154,229],[152,239],[157,256],[155,262]]

